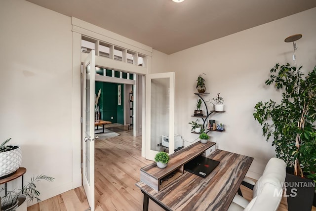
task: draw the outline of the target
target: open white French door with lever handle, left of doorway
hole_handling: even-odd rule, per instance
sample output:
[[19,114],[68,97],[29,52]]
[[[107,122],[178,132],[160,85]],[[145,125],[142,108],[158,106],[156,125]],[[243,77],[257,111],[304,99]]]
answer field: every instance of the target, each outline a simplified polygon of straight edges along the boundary
[[83,64],[82,182],[90,210],[94,211],[94,78],[95,54],[91,50]]

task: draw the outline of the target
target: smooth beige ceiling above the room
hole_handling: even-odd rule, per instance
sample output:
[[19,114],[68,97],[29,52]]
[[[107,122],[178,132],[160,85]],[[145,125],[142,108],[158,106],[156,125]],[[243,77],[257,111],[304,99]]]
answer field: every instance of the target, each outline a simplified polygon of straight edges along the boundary
[[316,0],[28,1],[166,54],[316,7]]

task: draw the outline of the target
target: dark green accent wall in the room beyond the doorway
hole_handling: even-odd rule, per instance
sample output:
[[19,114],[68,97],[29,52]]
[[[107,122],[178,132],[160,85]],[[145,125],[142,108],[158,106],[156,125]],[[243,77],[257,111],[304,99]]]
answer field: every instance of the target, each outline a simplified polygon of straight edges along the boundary
[[[118,105],[118,85],[121,86],[121,105]],[[124,84],[95,82],[95,93],[101,88],[98,102],[101,119],[112,123],[124,124]],[[111,119],[113,117],[113,119]]]

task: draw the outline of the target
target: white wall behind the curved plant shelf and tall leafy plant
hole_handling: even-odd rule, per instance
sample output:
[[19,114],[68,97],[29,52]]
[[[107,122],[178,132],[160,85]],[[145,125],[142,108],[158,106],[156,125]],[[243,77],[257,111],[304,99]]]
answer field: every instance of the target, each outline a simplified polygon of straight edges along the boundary
[[190,115],[197,102],[193,94],[197,92],[197,76],[205,73],[206,91],[210,92],[205,99],[220,92],[226,110],[211,116],[226,125],[225,132],[210,132],[211,140],[220,149],[254,157],[248,176],[258,178],[275,152],[252,116],[254,106],[258,101],[279,98],[279,93],[264,82],[277,62],[294,65],[293,44],[284,42],[286,37],[303,34],[296,42],[298,66],[312,70],[316,65],[315,20],[313,8],[169,55],[165,72],[175,71],[175,133],[186,141],[196,140],[188,123],[196,119]]

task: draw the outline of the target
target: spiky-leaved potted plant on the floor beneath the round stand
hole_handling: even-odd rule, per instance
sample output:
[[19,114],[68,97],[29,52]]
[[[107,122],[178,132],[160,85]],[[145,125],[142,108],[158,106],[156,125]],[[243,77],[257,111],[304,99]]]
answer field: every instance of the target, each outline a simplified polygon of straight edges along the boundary
[[[29,202],[37,200],[40,202],[40,192],[36,189],[36,183],[41,181],[53,181],[54,178],[46,175],[38,175],[37,177],[31,177],[31,182],[27,182],[27,185],[24,185],[22,189],[8,191],[1,198],[1,211],[26,211],[27,204],[25,203],[26,199],[29,199]],[[0,189],[0,192],[3,188]]]

